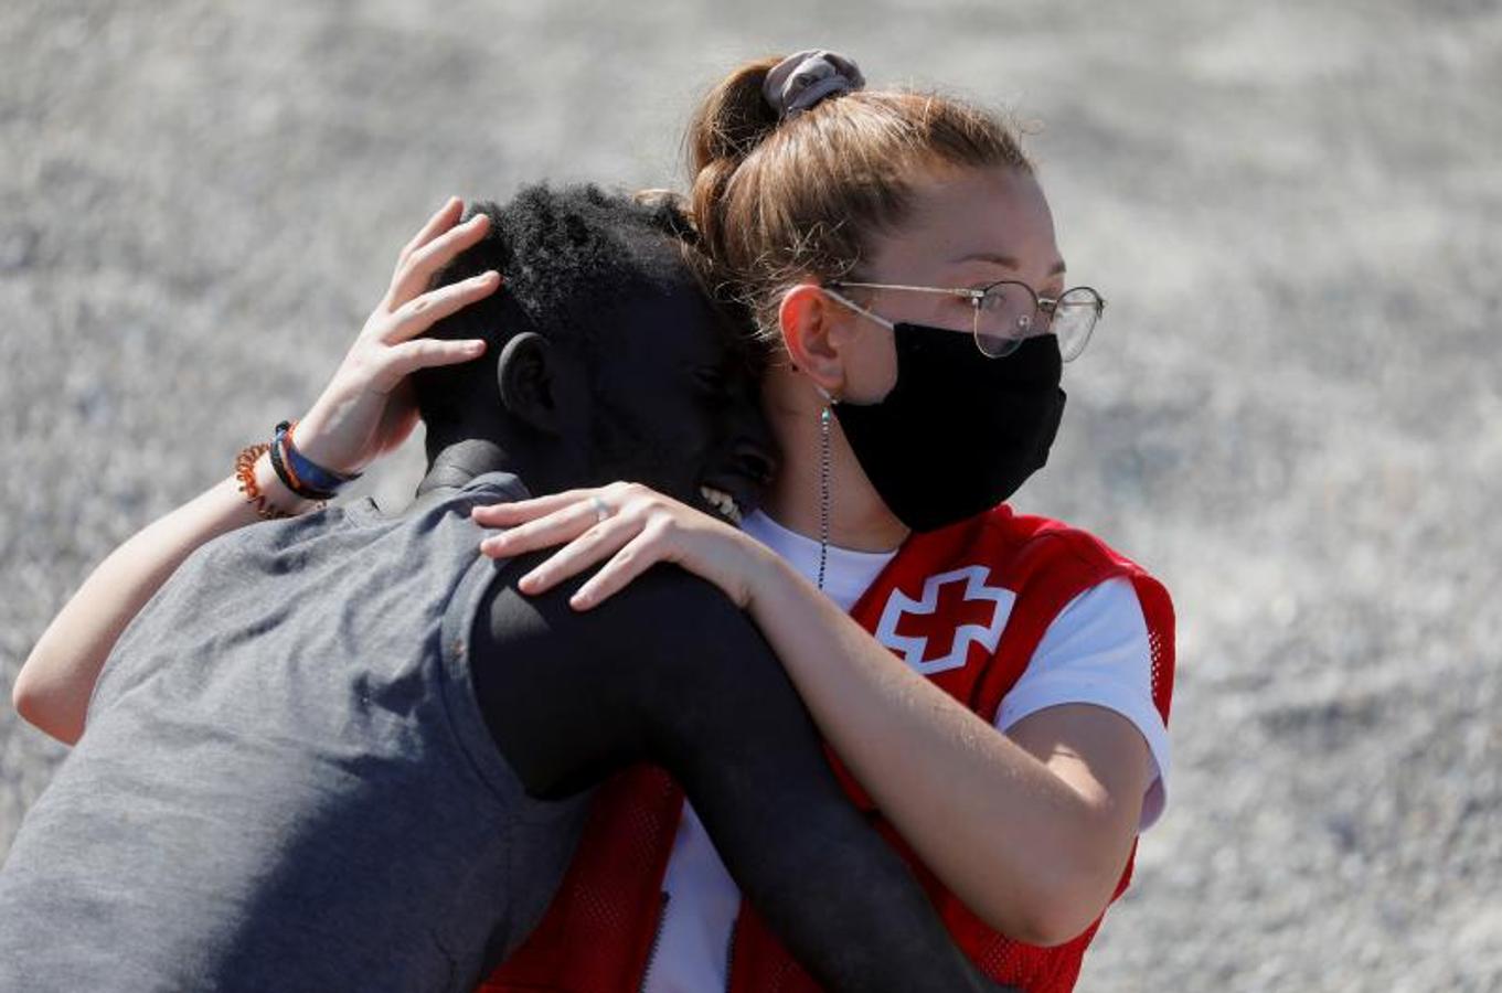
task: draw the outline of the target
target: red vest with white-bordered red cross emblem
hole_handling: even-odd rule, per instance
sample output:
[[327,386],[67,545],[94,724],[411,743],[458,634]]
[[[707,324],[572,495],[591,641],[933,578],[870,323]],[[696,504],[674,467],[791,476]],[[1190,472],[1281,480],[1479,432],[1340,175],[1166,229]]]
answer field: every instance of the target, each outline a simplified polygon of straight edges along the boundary
[[[994,721],[1057,613],[1107,578],[1128,578],[1148,620],[1152,693],[1164,721],[1173,690],[1173,605],[1164,587],[1090,535],[999,506],[909,538],[852,616],[949,696]],[[858,805],[874,810],[831,756]],[[487,993],[634,993],[655,946],[662,876],[683,795],[659,769],[607,783],[559,895],[527,942],[481,984]],[[1015,942],[970,913],[873,814],[909,859],[955,943],[987,975],[1029,991],[1069,990],[1099,918],[1054,948]],[[1131,861],[1114,895],[1126,889]],[[1114,897],[1113,897],[1114,898]],[[819,987],[745,903],[731,939],[728,993],[817,993]]]

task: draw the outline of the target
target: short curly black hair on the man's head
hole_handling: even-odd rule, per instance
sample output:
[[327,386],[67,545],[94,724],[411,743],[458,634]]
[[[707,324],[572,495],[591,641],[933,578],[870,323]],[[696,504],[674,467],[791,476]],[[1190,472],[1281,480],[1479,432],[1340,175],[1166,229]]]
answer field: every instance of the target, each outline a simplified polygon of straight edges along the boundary
[[[436,323],[436,338],[484,338],[479,362],[413,376],[418,410],[430,433],[463,424],[476,404],[500,404],[494,359],[512,335],[535,330],[598,370],[598,344],[611,314],[638,296],[703,285],[703,261],[683,212],[668,198],[638,201],[593,185],[526,186],[503,206],[473,204],[490,215],[485,237],[434,276],[434,285],[488,269],[505,282],[494,294]],[[707,297],[707,294],[706,294]]]

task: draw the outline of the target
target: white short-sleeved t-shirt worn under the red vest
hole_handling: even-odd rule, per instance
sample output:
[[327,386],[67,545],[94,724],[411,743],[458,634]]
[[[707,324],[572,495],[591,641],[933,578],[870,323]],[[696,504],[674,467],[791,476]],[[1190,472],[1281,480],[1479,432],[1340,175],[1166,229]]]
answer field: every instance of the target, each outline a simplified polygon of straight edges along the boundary
[[[819,575],[819,542],[792,532],[763,512],[742,530],[772,548],[810,580]],[[895,551],[829,548],[825,595],[849,611]],[[1128,580],[1107,580],[1075,596],[1053,619],[1021,678],[1002,697],[996,727],[1006,730],[1029,714],[1060,703],[1093,703],[1131,721],[1157,763],[1143,796],[1146,831],[1161,814],[1169,777],[1169,732],[1152,702],[1148,622]],[[740,891],[719,861],[692,805],[685,805],[662,880],[667,903],[644,993],[712,993],[725,988],[730,933]]]

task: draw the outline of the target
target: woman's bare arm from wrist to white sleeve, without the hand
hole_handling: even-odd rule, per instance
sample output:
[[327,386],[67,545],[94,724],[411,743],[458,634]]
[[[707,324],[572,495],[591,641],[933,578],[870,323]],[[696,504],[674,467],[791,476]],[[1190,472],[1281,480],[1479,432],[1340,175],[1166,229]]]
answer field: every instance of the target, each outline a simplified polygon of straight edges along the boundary
[[751,616],[882,813],[972,910],[1069,940],[1114,892],[1152,759],[1123,717],[1048,708],[1008,735],[915,673],[768,553]]

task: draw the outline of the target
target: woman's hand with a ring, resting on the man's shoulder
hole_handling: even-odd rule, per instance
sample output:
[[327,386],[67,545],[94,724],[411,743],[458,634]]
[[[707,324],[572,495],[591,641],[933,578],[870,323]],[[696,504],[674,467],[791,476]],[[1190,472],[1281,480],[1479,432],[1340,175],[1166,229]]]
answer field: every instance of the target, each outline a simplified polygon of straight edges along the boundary
[[772,560],[728,523],[635,482],[476,506],[473,518],[508,529],[481,542],[493,559],[563,545],[521,577],[523,593],[542,593],[604,562],[569,599],[575,610],[595,607],[658,562],[709,580],[745,608]]

